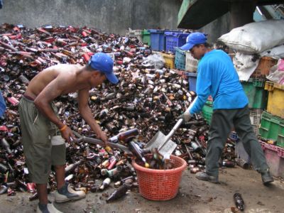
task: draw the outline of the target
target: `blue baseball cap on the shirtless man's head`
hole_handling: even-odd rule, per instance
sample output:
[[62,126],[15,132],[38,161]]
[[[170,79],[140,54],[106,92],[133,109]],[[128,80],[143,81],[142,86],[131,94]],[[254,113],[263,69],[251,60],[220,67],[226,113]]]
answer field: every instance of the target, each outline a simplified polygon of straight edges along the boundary
[[117,84],[119,79],[114,75],[114,61],[106,53],[96,53],[89,60],[89,65],[99,72],[103,72],[106,75],[107,80],[113,84]]

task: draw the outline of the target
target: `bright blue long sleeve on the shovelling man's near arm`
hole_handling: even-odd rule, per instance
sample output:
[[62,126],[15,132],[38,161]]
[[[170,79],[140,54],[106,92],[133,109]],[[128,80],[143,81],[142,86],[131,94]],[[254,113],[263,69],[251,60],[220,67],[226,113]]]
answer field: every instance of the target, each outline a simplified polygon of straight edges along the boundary
[[210,87],[212,85],[212,67],[208,60],[206,62],[200,61],[197,67],[197,82],[196,82],[196,101],[190,109],[190,114],[195,114],[202,110],[207,98],[210,94]]

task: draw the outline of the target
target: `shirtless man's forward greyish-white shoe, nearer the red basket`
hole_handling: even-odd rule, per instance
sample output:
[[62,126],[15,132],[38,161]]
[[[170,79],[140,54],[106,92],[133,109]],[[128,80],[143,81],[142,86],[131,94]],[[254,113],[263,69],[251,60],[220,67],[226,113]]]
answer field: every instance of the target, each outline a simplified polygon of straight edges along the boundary
[[54,193],[55,202],[67,202],[69,200],[80,200],[86,197],[83,191],[75,191],[71,185],[65,184],[59,190]]

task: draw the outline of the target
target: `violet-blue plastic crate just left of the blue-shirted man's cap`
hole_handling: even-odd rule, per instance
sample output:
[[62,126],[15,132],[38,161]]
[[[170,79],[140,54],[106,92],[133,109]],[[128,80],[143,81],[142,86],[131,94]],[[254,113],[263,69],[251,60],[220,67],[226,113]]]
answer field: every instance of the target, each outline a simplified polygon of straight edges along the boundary
[[181,47],[186,43],[189,33],[165,32],[165,50],[175,53],[176,47]]

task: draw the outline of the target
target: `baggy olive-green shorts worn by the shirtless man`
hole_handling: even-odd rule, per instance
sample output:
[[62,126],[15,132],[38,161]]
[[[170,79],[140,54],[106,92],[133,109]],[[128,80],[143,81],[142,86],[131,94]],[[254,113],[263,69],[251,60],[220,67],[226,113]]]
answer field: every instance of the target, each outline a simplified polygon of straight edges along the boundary
[[[53,110],[56,112],[54,106]],[[18,111],[30,181],[45,184],[51,165],[65,165],[65,140],[58,127],[41,114],[30,99],[22,97]]]

